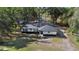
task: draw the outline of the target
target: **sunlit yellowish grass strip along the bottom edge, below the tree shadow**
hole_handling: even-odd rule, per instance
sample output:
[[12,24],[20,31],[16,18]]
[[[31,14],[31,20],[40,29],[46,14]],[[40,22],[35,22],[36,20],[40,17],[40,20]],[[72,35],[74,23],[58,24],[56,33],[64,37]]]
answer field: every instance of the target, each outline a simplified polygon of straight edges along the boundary
[[20,51],[61,51],[61,48],[56,48],[53,46],[47,46],[42,44],[29,44],[27,47],[19,49]]

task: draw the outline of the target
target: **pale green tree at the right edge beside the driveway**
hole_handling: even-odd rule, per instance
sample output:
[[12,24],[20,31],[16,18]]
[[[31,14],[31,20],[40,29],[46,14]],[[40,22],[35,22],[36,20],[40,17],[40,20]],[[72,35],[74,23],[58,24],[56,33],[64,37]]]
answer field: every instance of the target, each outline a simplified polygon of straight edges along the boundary
[[79,31],[79,8],[74,8],[74,14],[69,20],[69,30],[72,33]]

